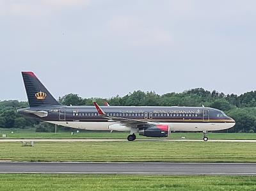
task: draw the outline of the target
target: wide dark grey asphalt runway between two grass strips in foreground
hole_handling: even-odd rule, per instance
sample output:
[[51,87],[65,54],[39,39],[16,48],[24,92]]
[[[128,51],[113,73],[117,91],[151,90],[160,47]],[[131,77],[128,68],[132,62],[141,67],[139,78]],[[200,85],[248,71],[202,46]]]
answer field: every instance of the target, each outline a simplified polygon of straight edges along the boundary
[[0,162],[0,173],[256,176],[256,164]]

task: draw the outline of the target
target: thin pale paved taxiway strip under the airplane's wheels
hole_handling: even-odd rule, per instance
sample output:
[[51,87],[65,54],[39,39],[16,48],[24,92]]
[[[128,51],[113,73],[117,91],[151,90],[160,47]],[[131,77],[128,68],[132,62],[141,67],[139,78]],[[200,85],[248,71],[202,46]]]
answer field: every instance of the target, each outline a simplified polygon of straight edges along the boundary
[[[127,139],[0,139],[0,142],[128,142]],[[165,142],[204,142],[200,139],[136,139],[136,141],[165,141]],[[252,140],[211,140],[207,142],[256,142],[255,139]]]

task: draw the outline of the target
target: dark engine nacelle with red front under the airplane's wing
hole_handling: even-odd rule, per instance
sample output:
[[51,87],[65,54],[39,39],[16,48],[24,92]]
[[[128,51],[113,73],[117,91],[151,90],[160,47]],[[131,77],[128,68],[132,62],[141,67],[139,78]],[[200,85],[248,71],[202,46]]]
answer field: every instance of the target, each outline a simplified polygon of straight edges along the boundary
[[145,137],[168,137],[169,134],[169,125],[150,125],[139,127],[139,135]]

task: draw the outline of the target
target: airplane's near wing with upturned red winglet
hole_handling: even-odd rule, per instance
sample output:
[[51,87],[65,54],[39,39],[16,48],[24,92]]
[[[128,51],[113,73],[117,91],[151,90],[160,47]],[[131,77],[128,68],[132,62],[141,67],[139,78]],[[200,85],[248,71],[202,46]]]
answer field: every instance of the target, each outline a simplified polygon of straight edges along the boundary
[[143,120],[139,120],[139,119],[129,119],[129,118],[120,118],[120,117],[115,117],[115,116],[108,116],[106,114],[106,112],[104,112],[100,106],[94,102],[94,105],[98,111],[98,114],[100,116],[102,116],[102,118],[106,118],[106,119],[109,119],[109,121],[113,121],[113,122],[119,122],[119,123],[122,123],[122,125],[125,125],[125,126],[137,126],[137,125],[155,125],[156,123],[152,123],[152,122],[149,122],[149,121],[143,121]]

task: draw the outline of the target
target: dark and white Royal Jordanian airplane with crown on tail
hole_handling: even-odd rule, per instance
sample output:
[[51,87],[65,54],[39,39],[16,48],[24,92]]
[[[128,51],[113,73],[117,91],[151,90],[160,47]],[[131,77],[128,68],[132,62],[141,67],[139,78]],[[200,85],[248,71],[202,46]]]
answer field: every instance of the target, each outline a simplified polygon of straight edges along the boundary
[[223,111],[210,107],[152,107],[152,106],[67,106],[61,105],[49,93],[33,72],[22,72],[29,107],[17,112],[71,128],[130,132],[128,141],[136,134],[145,137],[168,137],[171,132],[207,132],[225,130],[236,124]]

